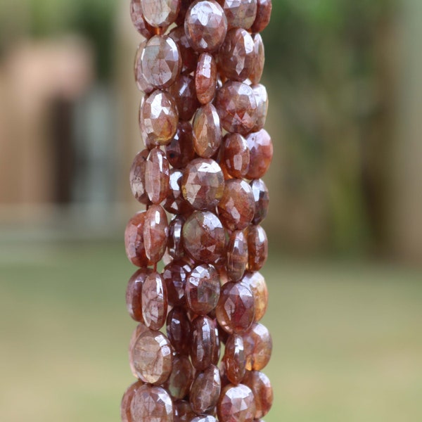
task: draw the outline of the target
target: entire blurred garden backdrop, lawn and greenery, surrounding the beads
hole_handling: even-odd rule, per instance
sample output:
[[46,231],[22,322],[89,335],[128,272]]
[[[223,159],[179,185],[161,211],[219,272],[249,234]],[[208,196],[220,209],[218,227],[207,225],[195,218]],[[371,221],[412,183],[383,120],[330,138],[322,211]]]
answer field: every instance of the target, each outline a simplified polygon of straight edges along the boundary
[[[422,421],[422,2],[273,0],[267,422]],[[0,3],[0,419],[117,421],[142,142],[129,0]]]

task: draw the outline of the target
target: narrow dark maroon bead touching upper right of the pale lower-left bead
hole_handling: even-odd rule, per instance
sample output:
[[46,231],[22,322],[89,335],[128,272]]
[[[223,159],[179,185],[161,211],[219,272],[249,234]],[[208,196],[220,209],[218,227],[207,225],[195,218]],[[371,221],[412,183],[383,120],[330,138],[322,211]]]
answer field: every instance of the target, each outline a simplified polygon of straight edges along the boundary
[[191,341],[191,321],[186,311],[181,307],[174,307],[167,315],[167,335],[180,354],[189,354]]

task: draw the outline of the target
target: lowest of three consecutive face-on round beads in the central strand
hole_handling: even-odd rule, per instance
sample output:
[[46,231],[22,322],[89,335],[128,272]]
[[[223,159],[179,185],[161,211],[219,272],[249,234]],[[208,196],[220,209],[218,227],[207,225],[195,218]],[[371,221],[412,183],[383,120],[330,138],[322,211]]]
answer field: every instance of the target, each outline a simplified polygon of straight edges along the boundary
[[219,299],[219,274],[210,264],[195,267],[186,280],[186,300],[194,314],[205,315],[215,309]]

